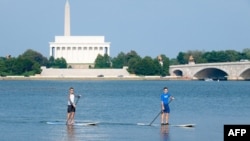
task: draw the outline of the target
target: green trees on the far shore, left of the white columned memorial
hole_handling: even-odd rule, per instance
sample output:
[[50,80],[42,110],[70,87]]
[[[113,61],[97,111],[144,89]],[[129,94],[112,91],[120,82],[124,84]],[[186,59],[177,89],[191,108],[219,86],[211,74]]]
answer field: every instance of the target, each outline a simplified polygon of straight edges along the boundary
[[41,53],[28,49],[18,57],[0,57],[0,76],[23,75],[30,76],[41,73],[41,66],[48,68],[66,68],[64,58],[47,59]]

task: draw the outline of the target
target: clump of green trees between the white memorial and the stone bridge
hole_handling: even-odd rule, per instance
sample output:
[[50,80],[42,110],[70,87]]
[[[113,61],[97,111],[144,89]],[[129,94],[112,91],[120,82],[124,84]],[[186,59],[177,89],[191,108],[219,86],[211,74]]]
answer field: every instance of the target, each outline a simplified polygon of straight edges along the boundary
[[150,56],[141,57],[136,51],[128,53],[120,52],[116,57],[111,58],[107,54],[98,55],[94,68],[123,68],[128,67],[128,72],[136,75],[168,75],[169,58],[159,55],[155,58]]

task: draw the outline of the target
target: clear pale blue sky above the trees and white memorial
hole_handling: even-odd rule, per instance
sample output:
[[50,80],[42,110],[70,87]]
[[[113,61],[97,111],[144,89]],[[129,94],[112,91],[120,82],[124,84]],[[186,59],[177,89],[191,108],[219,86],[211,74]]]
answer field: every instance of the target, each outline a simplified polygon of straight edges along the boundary
[[[0,56],[49,57],[66,0],[0,0]],[[72,36],[105,36],[110,56],[250,48],[250,0],[69,0]]]

